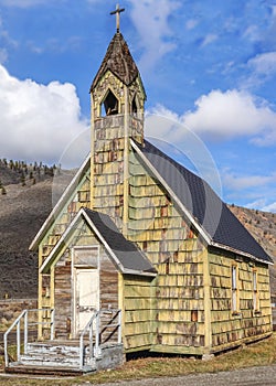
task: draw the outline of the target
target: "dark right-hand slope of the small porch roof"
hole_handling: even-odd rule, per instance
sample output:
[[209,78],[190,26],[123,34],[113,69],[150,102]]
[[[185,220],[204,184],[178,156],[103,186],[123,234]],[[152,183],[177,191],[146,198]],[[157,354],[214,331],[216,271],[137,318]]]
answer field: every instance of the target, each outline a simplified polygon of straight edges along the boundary
[[156,269],[147,256],[138,247],[127,240],[112,218],[99,212],[83,208],[102,237],[113,250],[125,270],[156,274]]

